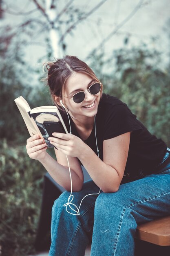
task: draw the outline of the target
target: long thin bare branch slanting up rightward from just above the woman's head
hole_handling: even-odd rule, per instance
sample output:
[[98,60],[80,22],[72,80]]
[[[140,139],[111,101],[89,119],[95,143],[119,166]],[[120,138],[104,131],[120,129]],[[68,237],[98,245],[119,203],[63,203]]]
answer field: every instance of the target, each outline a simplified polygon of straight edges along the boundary
[[141,8],[141,6],[144,4],[145,0],[140,0],[139,3],[136,5],[136,7],[131,11],[131,13],[122,21],[120,22],[115,29],[110,32],[110,34],[108,34],[108,36],[106,36],[106,38],[104,38],[104,40],[102,40],[102,42],[90,53],[88,54],[88,56],[86,57],[86,59],[88,59],[92,54],[95,54],[97,52],[98,49],[100,49],[112,36],[114,36],[117,31],[123,27],[126,22],[128,22],[134,15],[135,13],[137,13],[137,11]]

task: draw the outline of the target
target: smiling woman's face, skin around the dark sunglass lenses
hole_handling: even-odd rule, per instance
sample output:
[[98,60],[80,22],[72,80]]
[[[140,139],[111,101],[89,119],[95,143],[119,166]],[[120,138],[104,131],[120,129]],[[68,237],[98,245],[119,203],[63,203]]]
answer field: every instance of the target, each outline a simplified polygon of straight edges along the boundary
[[[90,76],[74,72],[67,80],[64,88],[64,102],[66,107],[70,110],[73,117],[79,119],[82,117],[94,117],[97,114],[97,108],[100,101],[101,91],[95,95],[86,91],[90,85],[95,83]],[[73,94],[79,91],[86,91],[84,101],[81,103],[75,103]],[[68,98],[67,98],[68,97]]]

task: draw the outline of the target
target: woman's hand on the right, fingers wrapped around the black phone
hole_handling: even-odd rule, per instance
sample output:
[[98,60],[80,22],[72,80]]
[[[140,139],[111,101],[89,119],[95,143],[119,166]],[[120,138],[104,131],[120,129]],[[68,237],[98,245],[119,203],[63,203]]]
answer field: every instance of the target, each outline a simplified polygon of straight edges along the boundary
[[78,157],[84,150],[84,142],[79,137],[73,134],[65,134],[60,132],[53,132],[54,137],[49,137],[49,141],[62,153],[71,157]]

